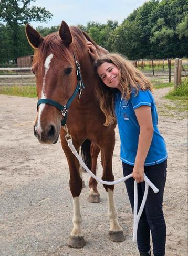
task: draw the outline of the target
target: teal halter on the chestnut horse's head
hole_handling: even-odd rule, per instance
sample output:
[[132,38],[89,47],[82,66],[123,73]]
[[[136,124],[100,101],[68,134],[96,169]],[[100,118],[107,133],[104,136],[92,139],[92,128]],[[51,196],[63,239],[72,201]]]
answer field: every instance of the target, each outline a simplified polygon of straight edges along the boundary
[[[74,58],[75,58],[75,54],[74,54]],[[70,99],[68,100],[67,104],[66,105],[61,105],[58,102],[56,102],[54,100],[50,100],[50,99],[40,99],[37,102],[37,108],[40,104],[48,104],[48,105],[52,105],[52,106],[58,108],[59,110],[61,110],[61,113],[62,113],[62,116],[63,116],[62,120],[61,120],[61,126],[65,126],[65,124],[66,124],[67,111],[68,111],[68,109],[69,109],[69,107],[72,103],[72,100],[75,99],[78,91],[79,91],[79,99],[80,99],[82,88],[85,88],[85,86],[83,84],[83,81],[82,81],[82,77],[81,77],[80,64],[78,63],[76,58],[75,58],[75,61],[76,61],[77,87],[76,87],[74,93],[72,94],[72,96],[70,97]]]

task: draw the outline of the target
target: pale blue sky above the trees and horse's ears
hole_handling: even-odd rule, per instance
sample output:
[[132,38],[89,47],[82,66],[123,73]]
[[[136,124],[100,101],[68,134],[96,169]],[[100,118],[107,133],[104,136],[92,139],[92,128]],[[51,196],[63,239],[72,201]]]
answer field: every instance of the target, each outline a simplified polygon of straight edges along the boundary
[[[33,27],[57,26],[64,20],[69,26],[86,25],[89,21],[106,24],[121,22],[147,0],[36,0],[30,6],[45,7],[54,16],[48,23],[30,22]],[[29,7],[30,7],[29,6]]]

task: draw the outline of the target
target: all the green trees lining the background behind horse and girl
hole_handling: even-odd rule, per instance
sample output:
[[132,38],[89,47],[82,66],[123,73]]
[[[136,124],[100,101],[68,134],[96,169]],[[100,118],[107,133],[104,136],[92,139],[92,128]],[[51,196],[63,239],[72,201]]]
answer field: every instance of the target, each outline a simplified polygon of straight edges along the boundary
[[[5,23],[0,23],[0,64],[33,54],[24,25],[47,21],[52,14],[45,8],[28,7],[31,2],[35,0],[1,0],[0,22]],[[148,0],[120,25],[108,20],[106,24],[89,21],[78,26],[109,52],[130,60],[188,56],[188,0]],[[37,27],[43,36],[58,29],[58,25]]]

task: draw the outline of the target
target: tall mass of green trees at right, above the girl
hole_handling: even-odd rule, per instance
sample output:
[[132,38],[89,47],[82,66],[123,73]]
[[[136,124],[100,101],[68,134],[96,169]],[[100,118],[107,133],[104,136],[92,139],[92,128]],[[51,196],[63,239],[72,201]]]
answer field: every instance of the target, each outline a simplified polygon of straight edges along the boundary
[[112,34],[112,50],[129,59],[187,56],[187,0],[149,0]]

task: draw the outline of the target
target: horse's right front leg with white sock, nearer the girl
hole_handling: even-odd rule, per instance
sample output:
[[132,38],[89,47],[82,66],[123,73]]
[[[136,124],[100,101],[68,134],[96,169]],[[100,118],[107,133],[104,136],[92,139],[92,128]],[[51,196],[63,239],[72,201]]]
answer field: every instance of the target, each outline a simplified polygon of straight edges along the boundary
[[[105,181],[114,181],[112,173],[112,154],[113,148],[110,151],[108,144],[104,144],[106,147],[101,148],[101,160],[103,166],[102,179]],[[103,185],[108,192],[108,216],[110,220],[109,239],[114,242],[122,242],[125,240],[122,227],[118,222],[118,213],[114,204],[113,189],[114,185]]]

